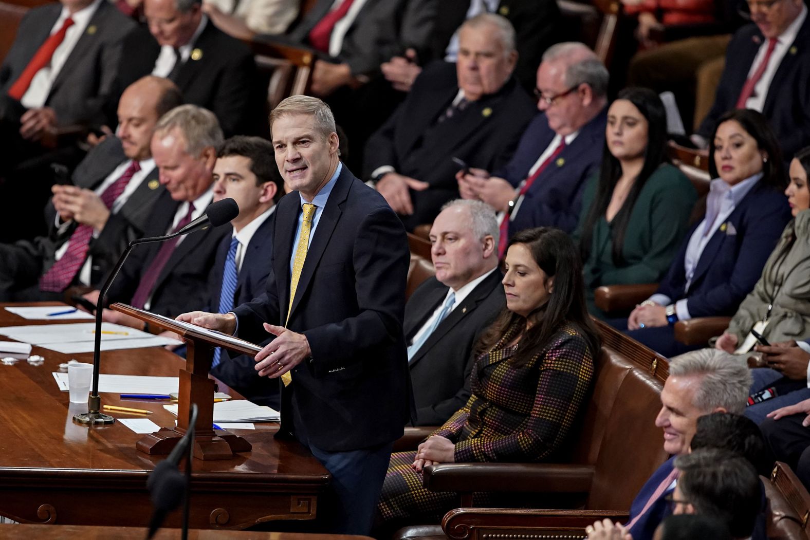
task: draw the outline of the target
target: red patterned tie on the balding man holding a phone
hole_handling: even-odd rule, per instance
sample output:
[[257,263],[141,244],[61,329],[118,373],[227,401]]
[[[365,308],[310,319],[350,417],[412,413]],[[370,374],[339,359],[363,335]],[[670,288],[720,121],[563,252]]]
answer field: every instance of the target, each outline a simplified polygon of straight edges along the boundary
[[[101,202],[104,202],[104,206],[107,206],[108,209],[112,208],[113,202],[121,197],[121,193],[124,193],[124,189],[130,183],[134,173],[140,170],[140,164],[137,161],[132,161],[124,174],[109,185],[107,189],[104,189],[104,193],[101,193]],[[79,272],[79,268],[84,264],[92,237],[92,225],[82,223],[79,227],[76,227],[76,230],[70,235],[66,252],[42,275],[40,291],[61,292],[70,285],[70,282],[76,277],[76,273]]]

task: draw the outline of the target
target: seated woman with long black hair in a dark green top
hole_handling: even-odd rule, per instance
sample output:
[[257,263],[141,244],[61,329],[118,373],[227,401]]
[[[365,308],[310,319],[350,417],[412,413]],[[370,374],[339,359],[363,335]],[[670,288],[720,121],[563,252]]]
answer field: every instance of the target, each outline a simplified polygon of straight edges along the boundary
[[659,96],[625,88],[608,109],[602,168],[585,189],[575,237],[584,261],[588,311],[594,289],[657,283],[689,229],[697,201],[692,183],[664,163],[667,115]]

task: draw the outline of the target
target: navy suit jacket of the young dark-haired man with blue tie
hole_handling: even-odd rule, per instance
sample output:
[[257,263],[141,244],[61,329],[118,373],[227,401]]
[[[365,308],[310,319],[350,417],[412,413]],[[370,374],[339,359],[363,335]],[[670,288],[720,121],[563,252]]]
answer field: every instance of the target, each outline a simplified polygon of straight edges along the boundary
[[[222,290],[222,276],[225,268],[225,257],[231,245],[231,235],[226,235],[216,250],[214,268],[211,270],[211,301],[208,311],[217,311],[220,307],[220,291]],[[270,261],[273,255],[273,216],[270,215],[264,223],[259,225],[245,249],[242,267],[237,279],[237,291],[233,296],[233,305],[245,304],[254,298],[262,296],[266,288],[267,275],[270,274]],[[270,342],[268,338],[262,341],[262,346]],[[278,410],[281,402],[281,389],[279,379],[270,379],[258,376],[255,369],[256,360],[250,355],[237,355],[228,358],[227,354],[220,355],[220,364],[211,368],[211,375],[215,376],[232,389],[241,393],[251,402],[268,405]]]

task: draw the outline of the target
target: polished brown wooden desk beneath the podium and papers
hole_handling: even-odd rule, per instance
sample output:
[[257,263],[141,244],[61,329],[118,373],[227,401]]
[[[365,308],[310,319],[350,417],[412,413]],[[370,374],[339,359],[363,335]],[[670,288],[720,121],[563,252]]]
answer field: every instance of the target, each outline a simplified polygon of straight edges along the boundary
[[[59,323],[28,321],[0,306],[0,326],[35,324]],[[142,435],[120,422],[100,427],[73,422],[73,415],[86,411],[87,405],[70,403],[52,372],[71,358],[92,364],[92,353],[63,355],[34,347],[32,355],[44,356],[44,364],[35,366],[25,359],[0,364],[0,514],[28,523],[146,525],[151,513],[147,474],[164,457],[136,450]],[[177,355],[160,347],[104,351],[100,373],[177,376],[183,365]],[[118,394],[100,395],[104,405],[154,410],[148,415],[152,422],[174,425],[165,402],[122,402]],[[315,516],[329,474],[300,444],[274,439],[277,424],[256,427],[235,431],[253,444],[252,452],[227,461],[194,460],[193,528],[241,529],[261,521]],[[89,497],[104,501],[100,512],[86,511]],[[177,513],[167,526],[179,525]]]

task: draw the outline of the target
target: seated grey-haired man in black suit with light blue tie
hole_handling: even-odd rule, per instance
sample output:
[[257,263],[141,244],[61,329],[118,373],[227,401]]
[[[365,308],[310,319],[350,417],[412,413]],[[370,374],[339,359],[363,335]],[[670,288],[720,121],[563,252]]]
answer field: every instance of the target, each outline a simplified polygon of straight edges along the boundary
[[405,304],[416,425],[441,426],[470,398],[475,343],[503,308],[498,223],[484,202],[448,202],[430,229],[436,276]]

